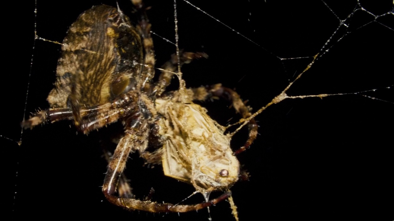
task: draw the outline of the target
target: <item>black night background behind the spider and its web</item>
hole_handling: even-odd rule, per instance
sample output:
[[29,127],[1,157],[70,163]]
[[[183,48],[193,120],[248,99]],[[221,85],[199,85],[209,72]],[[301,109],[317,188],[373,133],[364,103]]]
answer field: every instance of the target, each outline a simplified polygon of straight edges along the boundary
[[[325,1],[340,19],[345,19],[356,1]],[[390,11],[392,1],[360,1],[375,15]],[[80,13],[100,3],[116,6],[115,1],[37,2],[37,34],[61,42],[68,26]],[[146,1],[152,31],[174,41],[173,1]],[[178,1],[180,48],[206,52],[206,60],[193,61],[182,68],[188,87],[223,83],[235,88],[248,105],[258,110],[279,94],[319,52],[339,25],[339,20],[321,1],[191,1],[231,29]],[[128,1],[119,1],[132,18]],[[48,107],[46,96],[55,79],[60,46],[35,41],[34,2],[7,20],[3,44],[14,47],[3,65],[1,93],[3,105],[0,135],[19,140],[26,85],[33,54],[32,76],[25,117],[37,108]],[[22,9],[20,9],[22,10]],[[133,19],[133,18],[132,18]],[[273,105],[257,116],[257,140],[238,159],[251,177],[232,188],[241,221],[369,219],[392,220],[393,205],[393,89],[392,71],[394,16],[372,22],[373,17],[358,11],[347,21],[349,29],[338,30],[330,42],[333,47],[288,91],[289,95],[351,93],[370,89],[361,95],[331,96],[318,99],[290,99]],[[366,26],[357,29],[363,24]],[[385,26],[388,27],[385,27]],[[8,31],[10,30],[10,31]],[[339,42],[338,37],[351,33]],[[14,37],[15,36],[15,37]],[[18,38],[16,38],[18,37]],[[17,40],[22,39],[22,40]],[[175,46],[153,35],[156,67]],[[334,44],[332,44],[334,42]],[[6,53],[6,51],[3,51]],[[309,57],[281,61],[278,57]],[[296,74],[294,74],[296,73]],[[172,89],[177,88],[174,80]],[[203,103],[209,114],[225,124],[238,117],[227,101]],[[24,131],[22,145],[0,138],[4,153],[7,185],[3,199],[12,202],[18,217],[112,217],[125,220],[207,220],[206,210],[186,214],[128,212],[108,203],[101,193],[106,162],[101,157],[102,134],[76,135],[71,122],[44,125]],[[108,127],[103,131],[109,131]],[[232,140],[234,149],[245,140],[245,131]],[[164,177],[160,165],[143,167],[137,154],[131,155],[126,175],[139,199],[154,188],[153,200],[178,203],[190,195],[191,185]],[[18,172],[17,178],[15,173]],[[15,184],[17,185],[15,187]],[[14,192],[17,192],[15,195]],[[10,193],[10,194],[7,194]],[[220,193],[212,193],[211,198]],[[13,197],[16,197],[14,200]],[[203,201],[201,194],[186,203]],[[12,204],[11,203],[11,204]],[[391,208],[391,209],[390,209]],[[229,204],[211,208],[217,220],[234,220]],[[379,217],[379,218],[378,218]]]

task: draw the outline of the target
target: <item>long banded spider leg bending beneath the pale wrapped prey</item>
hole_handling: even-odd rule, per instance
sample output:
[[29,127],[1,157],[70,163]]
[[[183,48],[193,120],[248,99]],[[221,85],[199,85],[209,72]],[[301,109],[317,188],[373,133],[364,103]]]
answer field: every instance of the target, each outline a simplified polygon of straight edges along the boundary
[[140,116],[139,119],[128,119],[126,121],[125,136],[119,141],[104,178],[102,192],[108,201],[129,210],[144,210],[148,212],[188,212],[212,206],[223,199],[227,199],[227,197],[231,195],[231,192],[226,192],[216,199],[195,205],[156,203],[114,195],[119,177],[123,174],[125,169],[128,155],[135,150],[142,153],[148,145],[149,126],[147,120],[143,120]]

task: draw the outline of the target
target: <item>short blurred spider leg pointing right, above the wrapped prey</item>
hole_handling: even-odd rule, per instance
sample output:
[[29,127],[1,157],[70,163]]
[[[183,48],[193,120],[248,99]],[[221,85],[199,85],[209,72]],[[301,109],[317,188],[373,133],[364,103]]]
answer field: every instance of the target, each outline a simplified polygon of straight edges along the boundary
[[[208,55],[203,52],[182,52],[180,55],[180,65],[188,64],[193,59],[208,58]],[[162,74],[159,76],[159,80],[154,84],[153,94],[160,96],[165,88],[171,83],[174,72],[178,69],[178,57],[176,54],[171,55],[171,59],[163,64]]]

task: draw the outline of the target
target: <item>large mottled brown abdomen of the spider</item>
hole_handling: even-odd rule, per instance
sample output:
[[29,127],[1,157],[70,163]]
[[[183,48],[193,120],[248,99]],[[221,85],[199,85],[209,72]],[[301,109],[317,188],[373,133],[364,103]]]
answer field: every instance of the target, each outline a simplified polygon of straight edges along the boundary
[[143,63],[141,37],[117,9],[94,6],[70,26],[58,60],[51,107],[70,106],[69,96],[92,106],[131,90]]

